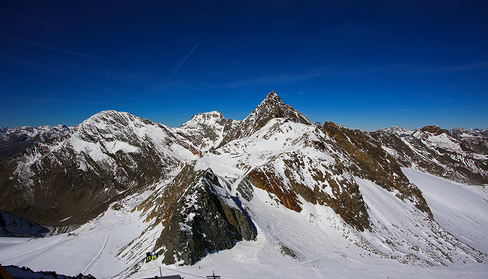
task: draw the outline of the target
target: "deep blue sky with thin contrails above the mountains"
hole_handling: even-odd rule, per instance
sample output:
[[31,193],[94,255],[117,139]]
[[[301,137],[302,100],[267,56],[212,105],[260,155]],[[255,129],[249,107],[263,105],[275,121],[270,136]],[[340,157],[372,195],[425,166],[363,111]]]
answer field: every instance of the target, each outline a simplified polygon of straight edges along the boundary
[[488,127],[486,0],[0,0],[0,34],[2,127],[241,120],[272,90],[350,129]]

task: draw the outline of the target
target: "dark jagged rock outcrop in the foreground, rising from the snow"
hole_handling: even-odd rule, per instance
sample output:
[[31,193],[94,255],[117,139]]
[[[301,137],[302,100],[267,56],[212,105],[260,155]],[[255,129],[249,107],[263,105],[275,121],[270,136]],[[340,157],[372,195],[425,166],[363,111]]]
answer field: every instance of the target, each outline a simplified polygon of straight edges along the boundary
[[153,225],[164,225],[154,248],[161,249],[163,263],[193,264],[207,252],[255,238],[250,219],[228,190],[210,168],[195,171],[187,166],[161,193],[139,206],[139,210],[154,208],[150,213],[156,217]]

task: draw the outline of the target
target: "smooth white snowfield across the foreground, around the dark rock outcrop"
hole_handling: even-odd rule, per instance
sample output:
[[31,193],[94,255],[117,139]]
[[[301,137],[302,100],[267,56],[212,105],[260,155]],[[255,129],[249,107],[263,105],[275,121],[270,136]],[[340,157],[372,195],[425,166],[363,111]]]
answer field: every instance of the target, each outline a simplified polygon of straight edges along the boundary
[[[488,189],[411,169],[402,170],[410,182],[422,190],[434,219],[440,225],[439,230],[445,230],[471,247],[488,253]],[[220,171],[229,176],[240,174],[235,169],[232,171],[230,166],[222,166]],[[488,278],[488,264],[465,256],[462,247],[452,246],[445,240],[439,242],[444,242],[448,249],[457,249],[456,255],[466,257],[466,263],[444,259],[442,262],[446,266],[415,266],[372,253],[374,249],[389,256],[405,257],[410,253],[428,260],[429,255],[433,255],[429,254],[432,247],[422,243],[435,226],[424,227],[423,216],[415,214],[412,206],[400,202],[394,193],[370,181],[355,180],[375,224],[371,232],[358,232],[331,208],[312,205],[305,200],[301,200],[303,210],[300,213],[289,210],[278,204],[272,195],[254,187],[254,198],[248,204],[243,202],[243,206],[256,226],[256,241],[237,242],[232,249],[208,254],[193,266],[166,266],[161,259],[145,263],[145,253],[151,252],[146,247],[154,246],[161,227],[145,231],[150,223],[145,222],[146,214],[151,210],[131,210],[153,191],[164,187],[168,183],[166,181],[118,202],[122,204],[121,210],[107,210],[76,229],[74,235],[0,238],[0,261],[3,266],[28,266],[34,271],[56,271],[69,276],[89,273],[97,279],[150,278],[159,276],[160,268],[163,276],[180,274],[185,278],[206,278],[214,271],[222,278],[255,279]],[[232,187],[235,191],[235,186]],[[416,226],[415,222],[419,225]],[[393,224],[398,227],[393,227]],[[135,239],[138,242],[132,242]],[[409,244],[399,241],[392,246],[385,243],[396,239],[408,239]],[[365,240],[370,250],[368,245],[355,244]],[[417,247],[412,247],[411,243]]]

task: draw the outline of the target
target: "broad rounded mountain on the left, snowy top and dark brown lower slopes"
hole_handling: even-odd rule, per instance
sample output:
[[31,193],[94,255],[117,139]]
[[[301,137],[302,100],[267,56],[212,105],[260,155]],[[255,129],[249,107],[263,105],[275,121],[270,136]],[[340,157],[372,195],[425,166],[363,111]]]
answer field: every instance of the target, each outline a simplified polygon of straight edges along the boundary
[[196,154],[171,128],[125,112],[100,112],[69,136],[2,161],[1,209],[47,225],[83,223],[128,190],[176,175]]

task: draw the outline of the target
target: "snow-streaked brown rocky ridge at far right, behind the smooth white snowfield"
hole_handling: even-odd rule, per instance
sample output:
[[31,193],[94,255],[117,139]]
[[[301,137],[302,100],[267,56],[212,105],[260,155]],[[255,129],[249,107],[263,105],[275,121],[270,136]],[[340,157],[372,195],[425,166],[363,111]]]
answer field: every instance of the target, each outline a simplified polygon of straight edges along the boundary
[[[387,130],[369,133],[402,166],[469,183],[488,183],[488,157],[438,126],[426,126],[398,137]],[[476,146],[476,144],[475,144]],[[482,146],[477,150],[482,151]]]

